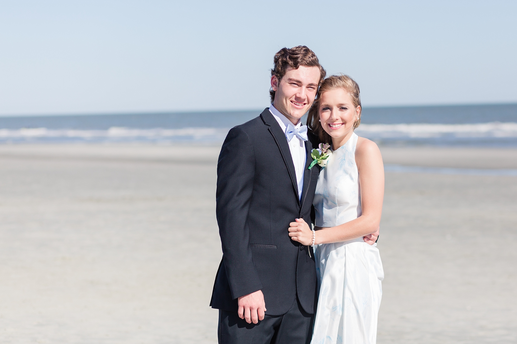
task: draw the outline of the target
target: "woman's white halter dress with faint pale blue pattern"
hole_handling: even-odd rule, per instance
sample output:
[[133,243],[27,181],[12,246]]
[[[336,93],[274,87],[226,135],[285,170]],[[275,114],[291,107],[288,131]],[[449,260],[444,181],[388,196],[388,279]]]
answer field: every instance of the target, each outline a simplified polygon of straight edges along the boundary
[[[333,227],[361,216],[357,135],[332,152],[314,196],[316,226]],[[317,232],[316,232],[317,236]],[[384,271],[377,244],[363,238],[315,247],[319,297],[311,344],[373,344]]]

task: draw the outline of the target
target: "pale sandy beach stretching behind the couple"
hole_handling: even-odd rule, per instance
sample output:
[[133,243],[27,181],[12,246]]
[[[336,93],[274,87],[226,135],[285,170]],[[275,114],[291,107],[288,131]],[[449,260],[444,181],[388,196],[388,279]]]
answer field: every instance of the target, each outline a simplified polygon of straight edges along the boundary
[[[517,149],[382,148],[517,169]],[[219,147],[0,145],[0,342],[217,343]],[[378,343],[517,341],[517,176],[386,173]]]

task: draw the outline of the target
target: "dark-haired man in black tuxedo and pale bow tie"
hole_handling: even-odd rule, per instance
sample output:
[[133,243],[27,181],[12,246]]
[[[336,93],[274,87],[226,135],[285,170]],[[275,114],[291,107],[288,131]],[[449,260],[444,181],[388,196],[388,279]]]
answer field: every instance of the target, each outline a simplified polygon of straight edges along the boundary
[[223,259],[210,306],[219,343],[306,343],[315,312],[314,252],[288,236],[311,218],[320,167],[317,141],[300,119],[325,70],[306,46],[282,48],[271,70],[271,106],[230,130],[217,165],[217,222]]

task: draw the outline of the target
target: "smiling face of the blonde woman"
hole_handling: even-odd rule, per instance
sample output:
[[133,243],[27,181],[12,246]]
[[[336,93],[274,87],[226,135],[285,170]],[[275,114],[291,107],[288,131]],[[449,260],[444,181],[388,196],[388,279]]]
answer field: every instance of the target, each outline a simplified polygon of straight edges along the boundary
[[[354,132],[354,123],[359,118],[361,107],[354,107],[352,96],[338,88],[324,92],[320,99],[320,122],[323,129],[332,137],[334,149],[339,139],[348,140]],[[335,141],[335,142],[334,142]]]

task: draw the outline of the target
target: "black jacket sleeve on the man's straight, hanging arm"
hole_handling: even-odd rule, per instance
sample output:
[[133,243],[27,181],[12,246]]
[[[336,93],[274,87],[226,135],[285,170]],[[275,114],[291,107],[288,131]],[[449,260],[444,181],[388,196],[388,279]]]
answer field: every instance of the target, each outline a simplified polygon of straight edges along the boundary
[[233,299],[262,289],[253,263],[247,226],[254,176],[253,145],[244,130],[234,127],[219,154],[216,191],[217,223]]

